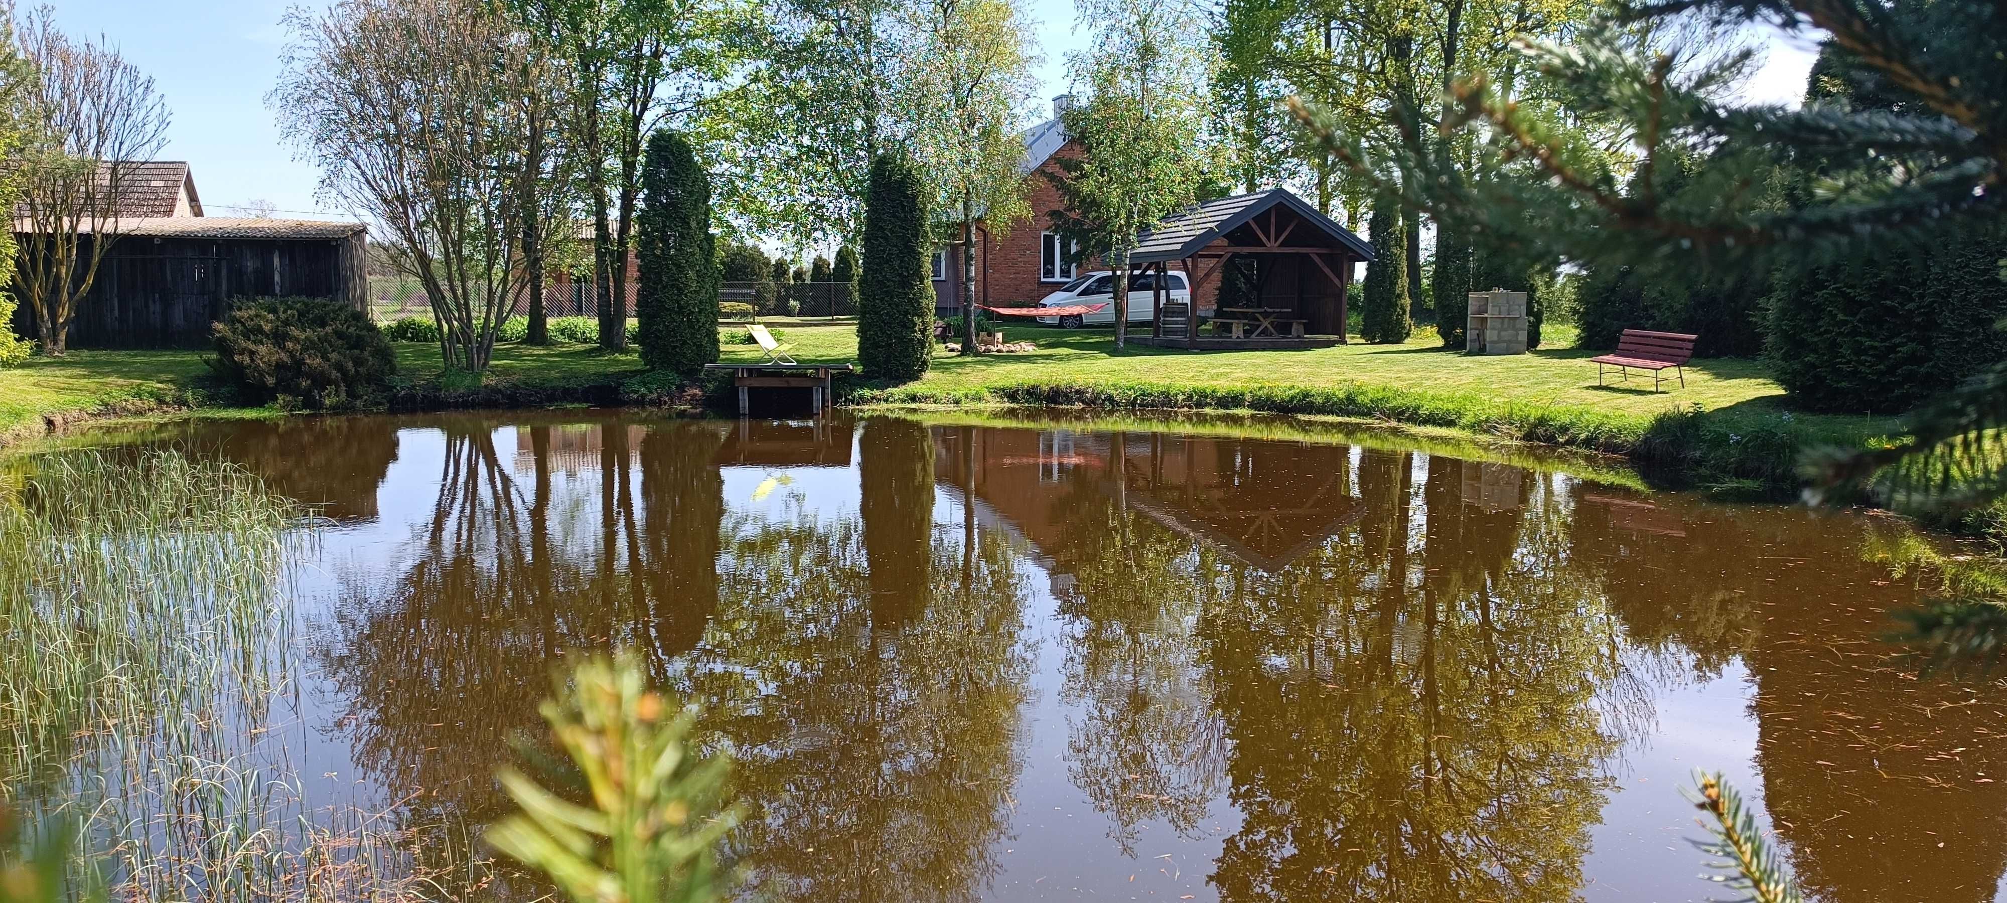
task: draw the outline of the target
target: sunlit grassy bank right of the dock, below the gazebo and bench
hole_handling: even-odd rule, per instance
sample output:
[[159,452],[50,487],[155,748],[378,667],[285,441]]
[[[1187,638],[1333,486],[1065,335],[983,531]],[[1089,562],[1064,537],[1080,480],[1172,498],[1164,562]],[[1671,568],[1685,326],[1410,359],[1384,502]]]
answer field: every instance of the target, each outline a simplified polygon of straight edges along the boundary
[[[861,405],[1082,405],[1222,409],[1385,419],[1626,456],[1668,480],[1736,494],[1786,494],[1812,443],[1873,443],[1891,417],[1806,415],[1748,359],[1694,361],[1686,387],[1656,393],[1650,377],[1598,385],[1596,351],[1511,357],[1441,351],[1433,335],[1405,345],[1351,343],[1309,351],[1114,351],[1106,331],[1006,329],[1032,353],[935,357],[919,381],[859,385]],[[1567,341],[1569,335],[1555,339]],[[795,357],[847,359],[845,329],[793,329]]]

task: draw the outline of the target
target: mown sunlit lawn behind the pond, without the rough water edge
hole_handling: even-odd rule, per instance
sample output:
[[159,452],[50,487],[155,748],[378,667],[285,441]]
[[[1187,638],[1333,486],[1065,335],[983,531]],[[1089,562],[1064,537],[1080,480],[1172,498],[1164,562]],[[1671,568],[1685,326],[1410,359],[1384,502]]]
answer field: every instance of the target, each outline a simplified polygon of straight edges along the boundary
[[[857,359],[857,329],[851,323],[777,325],[781,341],[801,361],[851,363]],[[725,327],[727,333],[739,327]],[[1475,393],[1501,401],[1569,405],[1610,413],[1654,415],[1674,405],[1700,403],[1708,409],[1776,409],[1782,389],[1756,361],[1696,361],[1686,371],[1686,387],[1650,391],[1650,377],[1634,375],[1632,385],[1596,385],[1594,351],[1541,349],[1511,357],[1467,357],[1435,347],[1433,335],[1407,345],[1351,343],[1313,351],[1170,351],[1130,347],[1114,353],[1106,329],[1006,329],[1012,341],[1032,341],[1038,351],[961,357],[935,349],[933,371],[915,391],[965,391],[1024,381],[1156,381],[1178,385],[1293,385],[1335,387],[1343,383],[1385,383],[1437,393]],[[1565,335],[1561,335],[1565,339]],[[725,345],[723,361],[759,361],[757,345]],[[397,345],[397,365],[405,379],[440,375],[434,345]],[[608,379],[640,369],[634,355],[606,355],[590,345],[500,345],[490,365],[492,379],[526,383],[572,383]],[[34,357],[18,369],[0,371],[0,433],[32,425],[44,413],[136,409],[171,403],[207,367],[203,351],[70,351],[66,357]]]

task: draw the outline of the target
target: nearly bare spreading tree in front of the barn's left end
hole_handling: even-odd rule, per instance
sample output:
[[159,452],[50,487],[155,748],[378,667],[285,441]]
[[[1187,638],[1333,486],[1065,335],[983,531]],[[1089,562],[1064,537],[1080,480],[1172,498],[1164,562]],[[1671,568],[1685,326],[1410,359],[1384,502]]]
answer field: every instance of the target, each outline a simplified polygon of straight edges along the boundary
[[[12,14],[12,10],[8,10]],[[98,263],[130,227],[120,217],[136,169],[167,142],[167,100],[136,66],[102,42],[70,40],[42,6],[18,28],[34,72],[14,116],[20,148],[20,255],[14,287],[42,339],[60,357]]]

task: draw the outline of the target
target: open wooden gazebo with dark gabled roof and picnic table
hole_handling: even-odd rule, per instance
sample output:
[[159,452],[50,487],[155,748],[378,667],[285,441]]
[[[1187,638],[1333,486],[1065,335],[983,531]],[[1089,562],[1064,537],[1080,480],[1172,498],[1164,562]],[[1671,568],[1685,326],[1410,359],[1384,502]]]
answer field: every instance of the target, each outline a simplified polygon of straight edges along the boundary
[[[1150,335],[1130,341],[1190,349],[1339,345],[1353,265],[1371,259],[1371,245],[1286,189],[1194,205],[1142,235],[1130,253],[1138,271],[1156,275]],[[1188,273],[1194,307],[1218,297],[1228,265],[1242,267],[1242,281],[1252,287],[1222,301],[1212,315],[1214,333],[1200,335],[1196,311],[1166,301],[1170,261]]]

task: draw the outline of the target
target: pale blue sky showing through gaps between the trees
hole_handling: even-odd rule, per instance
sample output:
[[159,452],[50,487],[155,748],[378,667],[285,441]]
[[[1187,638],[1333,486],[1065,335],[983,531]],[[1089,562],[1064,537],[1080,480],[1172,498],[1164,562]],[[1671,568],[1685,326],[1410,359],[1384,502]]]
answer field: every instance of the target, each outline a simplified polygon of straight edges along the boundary
[[[24,0],[24,4],[30,0]],[[189,161],[211,217],[233,205],[271,201],[283,217],[339,217],[315,201],[319,171],[293,159],[265,92],[279,74],[279,20],[301,0],[62,0],[56,22],[74,36],[104,34],[153,74],[175,110],[159,159]],[[321,0],[305,0],[321,6]],[[1066,90],[1066,52],[1082,46],[1072,0],[1030,0],[1038,20],[1044,96]],[[1748,100],[1796,100],[1810,48],[1770,42],[1768,62],[1744,90]]]

